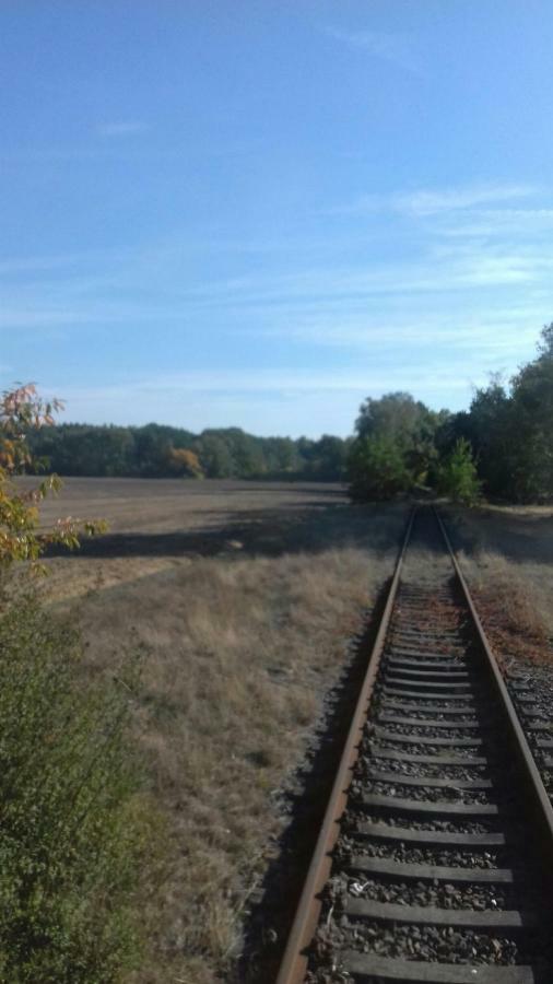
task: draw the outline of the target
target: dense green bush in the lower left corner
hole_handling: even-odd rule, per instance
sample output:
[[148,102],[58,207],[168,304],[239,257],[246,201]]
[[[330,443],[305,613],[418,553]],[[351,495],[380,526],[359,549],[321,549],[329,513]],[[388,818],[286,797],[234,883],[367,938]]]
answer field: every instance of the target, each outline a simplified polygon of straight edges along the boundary
[[82,686],[79,640],[33,598],[0,618],[0,981],[113,984],[137,958],[146,833],[129,691]]

